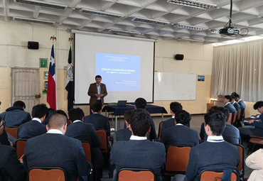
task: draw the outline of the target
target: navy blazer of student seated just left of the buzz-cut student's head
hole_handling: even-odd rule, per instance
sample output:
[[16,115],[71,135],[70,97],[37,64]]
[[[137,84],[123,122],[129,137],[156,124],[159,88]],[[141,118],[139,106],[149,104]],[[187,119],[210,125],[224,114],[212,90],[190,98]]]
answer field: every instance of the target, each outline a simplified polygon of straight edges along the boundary
[[32,120],[18,127],[17,138],[33,138],[35,136],[40,136],[41,134],[44,134],[46,132],[47,129],[44,124],[41,124],[36,120]]

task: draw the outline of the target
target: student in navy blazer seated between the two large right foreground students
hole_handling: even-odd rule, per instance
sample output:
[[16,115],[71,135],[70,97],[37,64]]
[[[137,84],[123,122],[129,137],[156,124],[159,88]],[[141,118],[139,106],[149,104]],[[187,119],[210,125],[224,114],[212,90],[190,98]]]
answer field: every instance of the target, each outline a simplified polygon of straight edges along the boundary
[[198,132],[186,126],[191,116],[187,111],[176,112],[176,126],[166,128],[163,131],[161,142],[166,146],[196,146],[199,144]]

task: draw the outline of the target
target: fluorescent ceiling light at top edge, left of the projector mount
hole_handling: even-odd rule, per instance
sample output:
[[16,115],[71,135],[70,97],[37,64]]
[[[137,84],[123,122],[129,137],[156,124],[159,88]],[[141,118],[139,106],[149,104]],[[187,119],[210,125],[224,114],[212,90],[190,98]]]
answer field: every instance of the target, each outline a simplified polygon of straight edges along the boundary
[[195,0],[168,0],[168,3],[188,6],[197,9],[214,9],[217,6],[215,4],[208,4],[202,1]]

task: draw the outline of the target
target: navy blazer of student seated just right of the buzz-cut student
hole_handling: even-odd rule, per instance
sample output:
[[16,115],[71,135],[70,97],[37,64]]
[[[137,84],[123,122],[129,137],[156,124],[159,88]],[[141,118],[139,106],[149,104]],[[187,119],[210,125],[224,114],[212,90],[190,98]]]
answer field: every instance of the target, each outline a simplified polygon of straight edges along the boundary
[[75,122],[68,126],[65,136],[76,138],[80,141],[88,141],[90,143],[90,151],[92,155],[92,165],[95,169],[101,168],[104,164],[104,158],[99,147],[101,144],[99,136],[97,136],[95,127],[92,124]]

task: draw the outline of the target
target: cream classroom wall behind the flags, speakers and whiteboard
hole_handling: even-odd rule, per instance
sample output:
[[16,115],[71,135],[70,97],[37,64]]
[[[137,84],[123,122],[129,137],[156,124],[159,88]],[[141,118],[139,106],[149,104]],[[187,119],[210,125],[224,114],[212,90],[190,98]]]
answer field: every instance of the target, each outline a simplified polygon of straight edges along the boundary
[[[68,65],[68,50],[70,31],[56,29],[51,26],[0,21],[0,113],[11,106],[11,67],[38,68],[39,58],[50,58],[52,41],[55,35],[55,60],[58,68],[58,108],[67,111],[67,92],[65,91],[65,66]],[[39,42],[38,50],[28,50],[28,41]],[[173,60],[173,55],[183,54],[183,61]],[[177,42],[176,40],[162,40],[159,38],[155,46],[155,72],[176,72],[205,75],[205,82],[197,82],[195,101],[178,101],[190,114],[203,114],[206,104],[210,102],[210,87],[213,63],[213,46],[203,43]],[[47,68],[40,68],[40,90],[44,88],[43,72]],[[187,84],[187,82],[186,82]],[[183,87],[180,87],[183,88]],[[46,95],[42,95],[40,103],[46,104]],[[164,106],[169,111],[171,101],[156,101],[155,105]],[[250,105],[251,104],[251,105]],[[252,105],[247,103],[247,115],[254,114]],[[89,106],[79,106],[89,114]],[[168,114],[167,114],[168,115]]]

